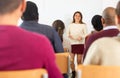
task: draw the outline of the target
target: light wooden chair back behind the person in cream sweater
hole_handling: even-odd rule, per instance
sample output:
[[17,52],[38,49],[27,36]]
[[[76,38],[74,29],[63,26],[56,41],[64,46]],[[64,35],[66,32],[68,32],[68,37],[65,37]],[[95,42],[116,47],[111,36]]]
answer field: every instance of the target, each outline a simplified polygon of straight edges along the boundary
[[79,65],[77,78],[120,78],[120,66]]

